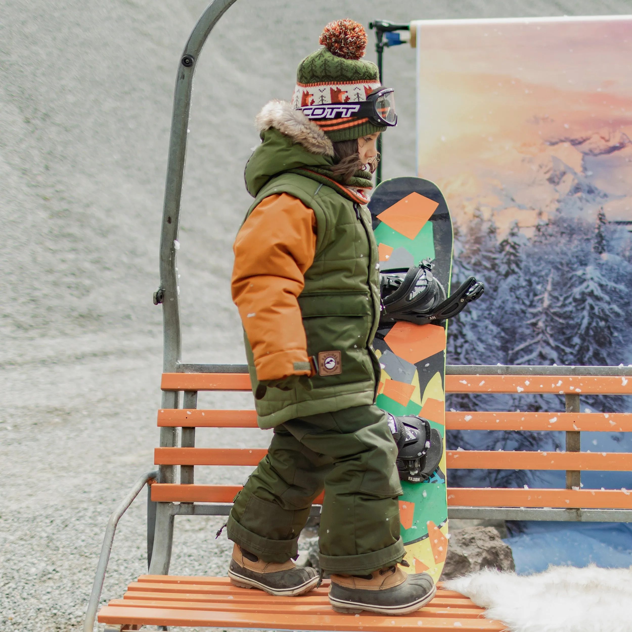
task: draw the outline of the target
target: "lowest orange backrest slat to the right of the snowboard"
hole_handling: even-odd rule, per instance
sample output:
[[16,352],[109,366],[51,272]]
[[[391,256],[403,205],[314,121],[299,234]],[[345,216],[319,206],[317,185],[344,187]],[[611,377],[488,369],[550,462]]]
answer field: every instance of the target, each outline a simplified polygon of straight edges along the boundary
[[632,509],[632,492],[607,489],[504,489],[448,487],[449,507],[554,507]]

